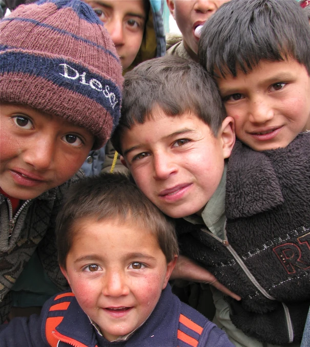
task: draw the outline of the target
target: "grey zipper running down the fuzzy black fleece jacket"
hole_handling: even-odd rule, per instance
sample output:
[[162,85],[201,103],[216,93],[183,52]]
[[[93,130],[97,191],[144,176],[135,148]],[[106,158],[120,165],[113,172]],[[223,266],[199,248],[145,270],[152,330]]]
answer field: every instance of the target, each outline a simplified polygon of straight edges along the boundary
[[[244,264],[242,259],[239,257],[239,255],[237,254],[235,249],[229,244],[228,238],[227,238],[227,232],[226,232],[226,221],[225,221],[224,226],[223,226],[224,240],[222,240],[221,238],[219,238],[219,237],[215,236],[214,234],[212,234],[208,229],[202,229],[202,230],[205,233],[207,233],[208,235],[210,235],[213,238],[215,238],[216,240],[218,240],[219,242],[221,242],[226,248],[228,248],[228,250],[230,251],[230,253],[234,257],[234,259],[237,261],[237,263],[240,265],[240,267],[244,271],[245,275],[250,279],[250,281],[255,285],[255,287],[261,292],[262,295],[264,295],[266,298],[268,298],[270,300],[276,300],[274,297],[269,295],[264,290],[264,288],[257,282],[256,278],[251,274],[250,270],[246,267],[246,265]],[[281,302],[281,303],[283,305],[285,318],[286,318],[286,325],[287,325],[287,331],[288,331],[288,340],[289,340],[290,343],[292,343],[293,340],[294,340],[294,331],[293,331],[293,325],[292,325],[290,312],[288,311],[288,307],[285,305],[285,303],[284,302]]]

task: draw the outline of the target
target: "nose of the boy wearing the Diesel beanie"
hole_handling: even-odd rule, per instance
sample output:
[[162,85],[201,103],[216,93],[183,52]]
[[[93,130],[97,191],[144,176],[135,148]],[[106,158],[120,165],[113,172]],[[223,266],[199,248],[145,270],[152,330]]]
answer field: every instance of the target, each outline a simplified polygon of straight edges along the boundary
[[55,139],[42,134],[30,143],[24,153],[24,161],[36,170],[47,170],[52,165],[55,147]]

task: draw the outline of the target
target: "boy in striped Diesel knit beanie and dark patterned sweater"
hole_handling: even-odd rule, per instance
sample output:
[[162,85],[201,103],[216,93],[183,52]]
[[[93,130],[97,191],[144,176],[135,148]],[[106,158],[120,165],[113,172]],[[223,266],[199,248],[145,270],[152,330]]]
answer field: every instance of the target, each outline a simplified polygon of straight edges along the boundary
[[[79,0],[42,0],[0,22],[0,321],[38,256],[57,286],[54,223],[91,149],[117,125],[121,65],[106,29]],[[38,292],[39,292],[38,288]]]

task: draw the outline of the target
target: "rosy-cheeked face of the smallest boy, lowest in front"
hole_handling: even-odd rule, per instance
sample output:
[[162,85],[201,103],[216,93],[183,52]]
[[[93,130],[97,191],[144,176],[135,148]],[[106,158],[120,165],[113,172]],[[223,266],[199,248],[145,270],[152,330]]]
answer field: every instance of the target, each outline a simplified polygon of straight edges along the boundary
[[82,219],[63,271],[82,310],[109,341],[150,316],[175,265],[150,230],[132,221]]

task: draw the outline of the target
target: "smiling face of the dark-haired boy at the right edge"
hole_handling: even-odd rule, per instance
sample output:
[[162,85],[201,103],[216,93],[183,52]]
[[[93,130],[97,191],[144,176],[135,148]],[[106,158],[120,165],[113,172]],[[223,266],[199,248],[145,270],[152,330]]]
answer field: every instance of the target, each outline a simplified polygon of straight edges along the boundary
[[251,148],[286,147],[310,129],[310,77],[296,60],[261,61],[247,74],[216,81],[236,137]]

